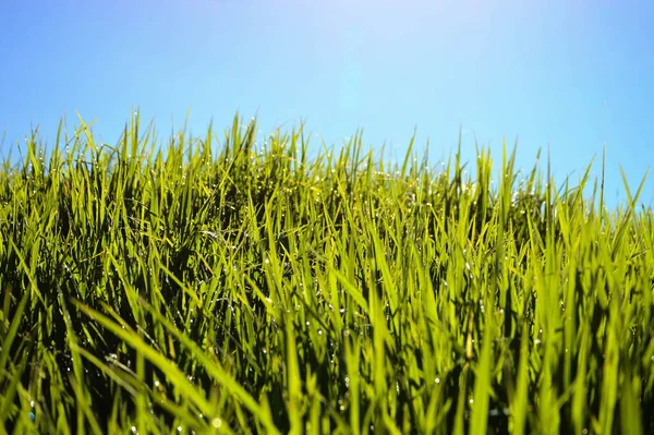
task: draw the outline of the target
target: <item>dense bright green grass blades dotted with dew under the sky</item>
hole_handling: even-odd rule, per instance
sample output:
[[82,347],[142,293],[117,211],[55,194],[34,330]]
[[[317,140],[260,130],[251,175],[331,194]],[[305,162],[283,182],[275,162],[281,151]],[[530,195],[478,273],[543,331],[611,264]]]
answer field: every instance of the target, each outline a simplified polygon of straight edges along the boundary
[[310,160],[301,129],[255,132],[158,150],[135,116],[116,148],[82,122],[5,161],[0,427],[654,431],[638,194],[608,210],[590,167],[555,189],[505,155],[493,183],[485,150],[467,176],[460,153],[389,166],[358,134]]

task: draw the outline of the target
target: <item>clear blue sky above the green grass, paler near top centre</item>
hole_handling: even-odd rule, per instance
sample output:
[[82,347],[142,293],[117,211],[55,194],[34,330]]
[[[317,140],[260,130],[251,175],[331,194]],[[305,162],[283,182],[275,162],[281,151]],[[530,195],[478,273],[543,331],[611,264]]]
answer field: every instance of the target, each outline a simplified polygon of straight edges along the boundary
[[[594,158],[606,201],[654,161],[654,3],[635,0],[0,0],[0,155],[36,125],[118,143],[132,108],[161,140],[222,130],[239,111],[261,137],[305,123],[314,152],[363,129],[401,160],[415,132],[436,166],[475,144],[557,183]],[[319,134],[319,136],[318,136]],[[498,168],[499,169],[499,168]],[[654,173],[641,197],[654,201]]]

